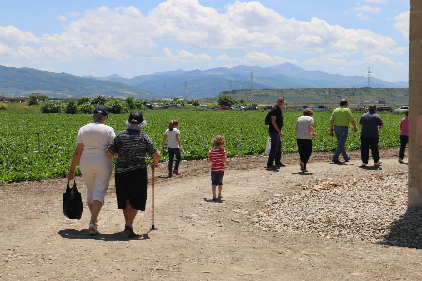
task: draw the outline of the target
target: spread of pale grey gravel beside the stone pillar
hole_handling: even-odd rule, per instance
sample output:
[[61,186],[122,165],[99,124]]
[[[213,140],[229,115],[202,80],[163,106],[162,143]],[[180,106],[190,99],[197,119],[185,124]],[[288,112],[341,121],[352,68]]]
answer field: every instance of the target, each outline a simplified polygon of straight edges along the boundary
[[407,177],[303,186],[298,195],[274,195],[254,222],[262,230],[422,248],[422,210],[407,209]]

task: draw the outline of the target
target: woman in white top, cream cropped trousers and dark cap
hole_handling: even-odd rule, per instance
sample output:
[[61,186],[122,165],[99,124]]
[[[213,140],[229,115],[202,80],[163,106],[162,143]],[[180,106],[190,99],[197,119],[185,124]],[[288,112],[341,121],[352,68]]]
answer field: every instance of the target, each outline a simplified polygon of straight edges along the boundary
[[104,124],[108,112],[105,107],[97,106],[92,113],[92,122],[79,128],[76,140],[76,150],[73,153],[72,164],[66,177],[74,178],[76,166],[84,176],[87,186],[87,203],[91,211],[89,234],[100,233],[97,230],[97,217],[104,204],[108,190],[108,182],[113,172],[111,157],[106,156],[106,149],[114,140],[116,134],[113,128]]

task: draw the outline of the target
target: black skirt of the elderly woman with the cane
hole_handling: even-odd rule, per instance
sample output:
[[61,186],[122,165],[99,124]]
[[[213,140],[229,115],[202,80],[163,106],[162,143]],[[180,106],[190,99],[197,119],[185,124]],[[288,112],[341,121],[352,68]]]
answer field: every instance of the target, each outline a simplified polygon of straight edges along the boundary
[[145,211],[148,176],[146,168],[115,173],[117,208],[126,209],[126,201],[139,211]]

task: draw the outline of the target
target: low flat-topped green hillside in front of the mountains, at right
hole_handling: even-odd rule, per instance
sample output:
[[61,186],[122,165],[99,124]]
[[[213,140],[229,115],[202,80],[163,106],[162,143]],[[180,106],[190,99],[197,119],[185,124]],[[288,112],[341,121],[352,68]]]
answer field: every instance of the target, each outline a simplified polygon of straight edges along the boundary
[[[228,92],[223,92],[227,94]],[[340,99],[348,99],[350,103],[379,102],[387,104],[407,104],[409,99],[408,88],[306,88],[306,89],[256,89],[253,90],[253,99],[257,103],[273,103],[278,96],[290,103],[333,103]],[[233,90],[233,99],[249,100],[250,90]]]

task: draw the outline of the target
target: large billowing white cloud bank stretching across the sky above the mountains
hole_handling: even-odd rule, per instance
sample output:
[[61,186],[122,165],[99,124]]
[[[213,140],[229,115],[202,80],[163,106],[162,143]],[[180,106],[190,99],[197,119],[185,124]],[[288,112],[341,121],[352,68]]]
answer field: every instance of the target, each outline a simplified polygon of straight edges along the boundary
[[[360,7],[373,13],[378,11],[377,8]],[[70,12],[67,16],[78,16],[78,13]],[[175,61],[211,59],[207,54],[198,54],[196,59],[196,54],[186,51],[189,47],[256,51],[250,53],[254,55],[241,58],[243,61],[268,60],[266,56],[257,55],[262,54],[262,48],[308,54],[330,49],[384,50],[384,54],[388,54],[388,50],[395,47],[391,37],[371,30],[346,29],[318,18],[310,22],[287,19],[257,1],[235,1],[221,12],[204,7],[197,0],[167,0],[147,15],[135,7],[100,7],[85,11],[80,19],[70,21],[60,34],[35,37],[13,26],[0,26],[0,40],[10,48],[9,55],[53,60],[154,58],[157,57],[155,42],[166,41],[181,46],[181,51],[170,51],[168,59]],[[25,51],[28,54],[24,54]]]

